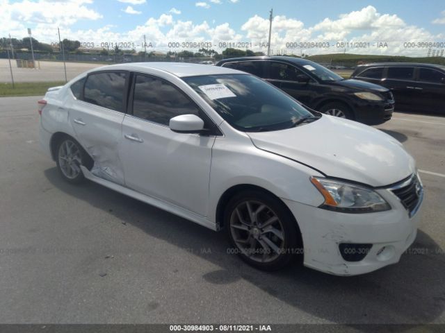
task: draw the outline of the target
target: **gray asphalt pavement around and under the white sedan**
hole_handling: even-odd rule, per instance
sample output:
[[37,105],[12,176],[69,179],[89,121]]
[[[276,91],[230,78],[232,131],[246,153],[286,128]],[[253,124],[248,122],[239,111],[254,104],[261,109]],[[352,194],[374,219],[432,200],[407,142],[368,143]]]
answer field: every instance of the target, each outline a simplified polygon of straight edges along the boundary
[[[227,254],[223,234],[63,182],[38,146],[38,99],[0,99],[0,323],[445,323],[443,176],[421,173],[420,230],[400,263],[264,273]],[[445,173],[445,117],[396,113],[378,128]]]

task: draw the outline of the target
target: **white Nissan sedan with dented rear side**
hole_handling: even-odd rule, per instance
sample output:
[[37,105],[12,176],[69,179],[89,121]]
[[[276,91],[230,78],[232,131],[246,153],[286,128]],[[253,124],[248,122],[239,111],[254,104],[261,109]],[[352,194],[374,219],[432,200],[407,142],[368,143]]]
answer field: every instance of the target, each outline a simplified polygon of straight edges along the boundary
[[[90,70],[38,102],[60,176],[213,230],[245,262],[356,275],[398,262],[423,187],[394,138],[250,74],[183,63]],[[165,222],[168,223],[168,222]]]

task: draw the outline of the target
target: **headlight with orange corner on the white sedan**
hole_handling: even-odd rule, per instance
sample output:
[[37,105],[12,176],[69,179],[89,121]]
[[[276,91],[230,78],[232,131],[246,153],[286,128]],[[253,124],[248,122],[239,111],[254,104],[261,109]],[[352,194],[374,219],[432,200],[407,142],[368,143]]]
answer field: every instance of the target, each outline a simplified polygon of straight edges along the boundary
[[371,213],[391,209],[373,189],[327,178],[311,177],[311,182],[325,198],[321,208],[343,213]]

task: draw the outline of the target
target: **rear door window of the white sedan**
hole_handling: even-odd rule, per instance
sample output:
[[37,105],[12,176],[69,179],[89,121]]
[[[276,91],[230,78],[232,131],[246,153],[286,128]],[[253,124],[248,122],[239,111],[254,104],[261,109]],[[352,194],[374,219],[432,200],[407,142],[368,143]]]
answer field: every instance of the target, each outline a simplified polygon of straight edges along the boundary
[[127,73],[106,72],[87,77],[83,100],[103,108],[124,112]]

